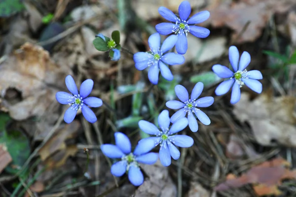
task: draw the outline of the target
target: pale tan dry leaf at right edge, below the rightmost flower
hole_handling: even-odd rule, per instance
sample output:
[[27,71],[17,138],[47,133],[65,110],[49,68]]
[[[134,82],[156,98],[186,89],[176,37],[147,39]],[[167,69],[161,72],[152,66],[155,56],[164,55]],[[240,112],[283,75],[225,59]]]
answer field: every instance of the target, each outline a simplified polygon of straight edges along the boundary
[[263,146],[282,145],[296,147],[295,97],[273,97],[263,93],[250,100],[247,93],[241,94],[234,105],[233,113],[241,122],[248,122],[257,142]]

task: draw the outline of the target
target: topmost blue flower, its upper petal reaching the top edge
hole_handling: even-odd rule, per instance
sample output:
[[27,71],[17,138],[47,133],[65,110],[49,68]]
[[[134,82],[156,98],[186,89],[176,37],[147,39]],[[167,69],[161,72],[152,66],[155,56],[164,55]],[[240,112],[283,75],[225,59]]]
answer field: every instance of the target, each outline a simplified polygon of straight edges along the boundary
[[183,1],[179,5],[179,16],[177,17],[171,10],[166,7],[158,8],[159,14],[172,23],[160,23],[155,26],[158,33],[162,35],[168,35],[170,33],[176,33],[178,35],[178,41],[176,43],[176,50],[179,54],[185,54],[187,51],[187,33],[200,38],[208,37],[210,31],[203,27],[194,26],[197,23],[202,23],[210,17],[209,11],[201,11],[194,14],[188,19],[191,13],[190,3]]

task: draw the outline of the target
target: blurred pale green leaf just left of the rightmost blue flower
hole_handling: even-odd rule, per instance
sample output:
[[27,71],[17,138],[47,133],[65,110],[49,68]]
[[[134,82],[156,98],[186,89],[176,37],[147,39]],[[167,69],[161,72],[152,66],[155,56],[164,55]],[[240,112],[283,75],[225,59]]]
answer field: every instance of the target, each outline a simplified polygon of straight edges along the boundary
[[209,87],[211,85],[214,85],[215,83],[217,83],[220,80],[221,80],[221,78],[219,76],[217,76],[217,74],[215,74],[212,71],[203,72],[203,73],[193,75],[190,77],[191,83],[202,82],[205,87]]

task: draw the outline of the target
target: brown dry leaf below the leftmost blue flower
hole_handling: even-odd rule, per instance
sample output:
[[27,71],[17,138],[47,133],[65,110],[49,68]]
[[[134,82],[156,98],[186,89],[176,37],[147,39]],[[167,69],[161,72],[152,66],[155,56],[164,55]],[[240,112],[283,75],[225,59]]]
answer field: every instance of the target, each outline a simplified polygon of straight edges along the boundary
[[65,164],[69,156],[73,156],[77,152],[75,145],[68,146],[65,143],[66,139],[74,138],[80,124],[73,121],[71,124],[64,126],[56,132],[46,144],[39,150],[39,155],[42,161],[45,161],[49,167],[56,167]]

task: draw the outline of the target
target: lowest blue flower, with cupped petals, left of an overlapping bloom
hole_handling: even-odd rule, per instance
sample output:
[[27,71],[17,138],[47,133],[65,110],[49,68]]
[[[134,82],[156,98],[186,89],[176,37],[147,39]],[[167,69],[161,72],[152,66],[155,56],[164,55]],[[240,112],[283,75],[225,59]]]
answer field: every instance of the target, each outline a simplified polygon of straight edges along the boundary
[[115,132],[115,144],[103,144],[101,150],[109,158],[121,159],[111,166],[111,173],[114,176],[122,176],[128,172],[128,179],[134,186],[142,185],[144,181],[143,173],[139,167],[142,164],[154,164],[158,159],[157,153],[148,153],[154,148],[153,140],[146,140],[138,144],[131,152],[131,142],[122,132]]

